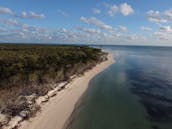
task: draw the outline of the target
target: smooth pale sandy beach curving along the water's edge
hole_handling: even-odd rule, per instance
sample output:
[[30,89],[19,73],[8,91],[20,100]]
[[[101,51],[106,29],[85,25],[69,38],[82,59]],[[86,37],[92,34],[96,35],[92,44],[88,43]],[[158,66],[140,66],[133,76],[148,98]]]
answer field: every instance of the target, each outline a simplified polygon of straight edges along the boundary
[[62,129],[74,110],[75,104],[88,88],[89,81],[114,63],[112,55],[108,60],[75,78],[66,88],[41,107],[36,117],[23,121],[19,129]]

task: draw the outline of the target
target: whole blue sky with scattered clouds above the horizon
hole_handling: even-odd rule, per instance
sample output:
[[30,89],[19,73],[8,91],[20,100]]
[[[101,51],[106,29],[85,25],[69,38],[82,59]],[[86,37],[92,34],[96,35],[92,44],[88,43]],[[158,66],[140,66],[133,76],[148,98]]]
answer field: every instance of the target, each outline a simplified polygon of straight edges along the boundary
[[0,43],[172,46],[172,0],[0,0]]

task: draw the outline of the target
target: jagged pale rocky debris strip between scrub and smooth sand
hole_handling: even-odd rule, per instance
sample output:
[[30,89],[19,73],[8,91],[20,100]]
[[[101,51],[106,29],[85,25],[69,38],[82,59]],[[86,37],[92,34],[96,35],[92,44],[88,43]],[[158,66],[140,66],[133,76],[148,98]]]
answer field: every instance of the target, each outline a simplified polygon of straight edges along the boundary
[[36,94],[29,96],[20,96],[19,98],[25,98],[26,103],[29,105],[29,110],[24,109],[14,117],[9,117],[7,114],[0,113],[0,127],[2,129],[14,129],[19,126],[19,123],[29,117],[30,113],[41,106],[41,104],[47,102],[51,97],[54,97],[59,91],[65,88],[68,81],[64,81],[56,84],[53,90],[50,90],[46,95],[37,97]]

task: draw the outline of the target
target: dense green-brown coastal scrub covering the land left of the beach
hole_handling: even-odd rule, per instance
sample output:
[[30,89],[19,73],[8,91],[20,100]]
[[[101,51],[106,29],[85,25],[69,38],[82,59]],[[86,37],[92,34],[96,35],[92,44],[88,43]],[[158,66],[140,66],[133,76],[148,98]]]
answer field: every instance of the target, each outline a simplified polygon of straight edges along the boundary
[[105,59],[106,53],[87,46],[1,44],[0,112],[13,116],[30,109],[21,96],[45,95],[52,83],[69,81]]

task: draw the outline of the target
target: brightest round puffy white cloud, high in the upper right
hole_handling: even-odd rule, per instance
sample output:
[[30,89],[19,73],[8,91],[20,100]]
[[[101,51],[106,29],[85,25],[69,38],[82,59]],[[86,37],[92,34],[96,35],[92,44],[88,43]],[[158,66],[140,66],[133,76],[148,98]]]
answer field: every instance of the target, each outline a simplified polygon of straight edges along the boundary
[[128,16],[134,13],[134,9],[127,3],[123,3],[120,5],[120,11],[124,16]]

